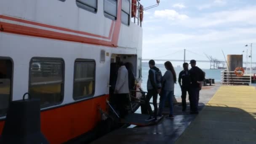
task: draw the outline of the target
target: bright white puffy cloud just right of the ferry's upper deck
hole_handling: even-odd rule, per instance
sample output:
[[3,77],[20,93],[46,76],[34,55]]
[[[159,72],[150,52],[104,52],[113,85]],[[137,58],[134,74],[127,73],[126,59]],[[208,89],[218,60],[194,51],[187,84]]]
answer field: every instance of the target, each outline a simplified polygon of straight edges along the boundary
[[185,14],[180,14],[177,11],[174,10],[161,10],[161,11],[155,11],[154,14],[155,17],[157,18],[167,18],[169,20],[185,20],[187,18],[189,18],[187,15]]

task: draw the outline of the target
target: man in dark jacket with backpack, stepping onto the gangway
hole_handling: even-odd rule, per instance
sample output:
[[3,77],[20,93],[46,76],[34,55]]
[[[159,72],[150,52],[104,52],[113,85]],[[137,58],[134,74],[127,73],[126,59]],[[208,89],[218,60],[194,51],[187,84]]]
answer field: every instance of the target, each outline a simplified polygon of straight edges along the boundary
[[[148,76],[148,80],[147,80],[147,96],[146,96],[146,100],[145,103],[147,105],[147,109],[149,112],[150,117],[147,119],[147,121],[150,120],[157,120],[157,95],[160,92],[160,87],[157,86],[157,80],[156,80],[156,73],[155,72],[159,72],[160,70],[155,67],[155,61],[154,60],[150,60],[149,61],[149,76]],[[153,105],[154,105],[154,115],[152,112],[152,108],[149,104],[150,99],[153,97]],[[154,116],[154,117],[153,117]]]

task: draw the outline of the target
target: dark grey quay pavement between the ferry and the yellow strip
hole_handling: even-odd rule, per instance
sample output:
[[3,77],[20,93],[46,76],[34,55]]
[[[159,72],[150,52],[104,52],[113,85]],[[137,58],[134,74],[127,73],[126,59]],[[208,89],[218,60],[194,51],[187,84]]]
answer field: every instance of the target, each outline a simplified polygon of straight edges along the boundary
[[[203,109],[218,88],[218,85],[211,86],[200,92],[200,110]],[[187,112],[182,112],[181,105],[175,105],[175,117],[173,119],[163,117],[156,125],[120,128],[93,141],[91,144],[173,144],[197,117],[197,115],[189,114],[189,103],[187,106]],[[168,109],[165,109],[165,113],[168,113]]]

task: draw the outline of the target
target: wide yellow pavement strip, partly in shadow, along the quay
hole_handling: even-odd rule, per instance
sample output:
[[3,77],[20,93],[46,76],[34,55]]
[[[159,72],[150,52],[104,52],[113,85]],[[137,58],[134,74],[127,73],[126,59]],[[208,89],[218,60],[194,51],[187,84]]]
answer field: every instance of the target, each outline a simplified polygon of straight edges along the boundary
[[256,144],[256,88],[221,86],[175,144]]

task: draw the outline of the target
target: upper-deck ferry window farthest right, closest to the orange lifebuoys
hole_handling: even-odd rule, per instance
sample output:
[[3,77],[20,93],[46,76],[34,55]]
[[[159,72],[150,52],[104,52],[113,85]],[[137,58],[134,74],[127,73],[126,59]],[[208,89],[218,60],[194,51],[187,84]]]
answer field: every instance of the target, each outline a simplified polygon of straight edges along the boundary
[[122,0],[121,21],[123,24],[130,25],[130,0]]

